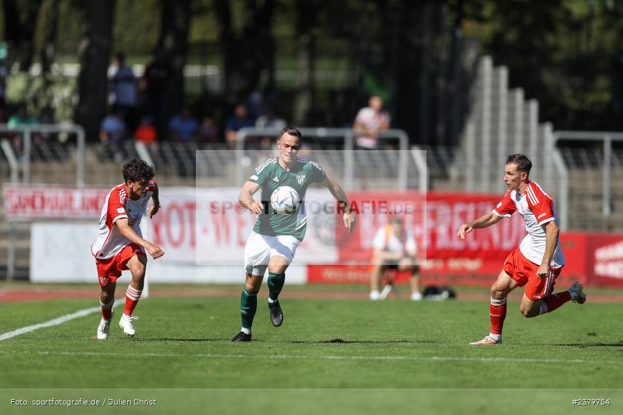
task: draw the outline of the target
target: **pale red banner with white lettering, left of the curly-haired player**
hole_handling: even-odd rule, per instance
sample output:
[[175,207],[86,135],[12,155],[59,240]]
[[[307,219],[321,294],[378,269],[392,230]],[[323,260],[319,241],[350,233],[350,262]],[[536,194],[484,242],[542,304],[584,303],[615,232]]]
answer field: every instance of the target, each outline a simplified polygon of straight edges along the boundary
[[34,219],[98,219],[107,194],[100,187],[4,185],[8,221]]

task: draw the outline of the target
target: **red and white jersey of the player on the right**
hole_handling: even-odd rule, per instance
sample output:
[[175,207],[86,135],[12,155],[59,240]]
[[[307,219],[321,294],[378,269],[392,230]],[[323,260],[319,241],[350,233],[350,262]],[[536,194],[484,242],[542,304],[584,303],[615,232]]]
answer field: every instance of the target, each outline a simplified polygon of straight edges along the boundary
[[[549,194],[543,192],[538,183],[530,181],[525,187],[523,195],[516,190],[508,190],[493,213],[497,216],[509,217],[515,211],[523,217],[525,230],[528,232],[521,241],[519,250],[534,264],[541,265],[545,254],[545,229],[542,226],[550,221],[559,223],[556,210],[554,210],[554,201]],[[565,256],[560,248],[560,243],[557,243],[550,266],[559,268],[564,264]]]

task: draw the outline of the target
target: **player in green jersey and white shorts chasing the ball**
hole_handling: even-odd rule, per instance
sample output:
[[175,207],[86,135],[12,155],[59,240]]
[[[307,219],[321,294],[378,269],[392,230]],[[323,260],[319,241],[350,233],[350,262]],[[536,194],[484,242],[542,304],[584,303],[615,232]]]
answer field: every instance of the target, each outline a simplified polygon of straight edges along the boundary
[[[311,183],[319,183],[329,189],[343,210],[344,226],[352,231],[355,215],[344,191],[329,177],[318,163],[298,157],[300,131],[293,127],[281,130],[277,139],[279,157],[269,158],[255,168],[240,190],[238,201],[251,212],[258,214],[253,231],[244,247],[244,268],[246,280],[240,295],[242,329],[232,342],[250,342],[253,317],[258,308],[258,291],[266,269],[269,270],[268,306],[273,326],[280,326],[283,313],[279,304],[279,293],[285,281],[285,270],[294,258],[296,247],[305,237],[307,216],[305,215],[305,192]],[[290,186],[298,192],[301,203],[296,212],[289,215],[273,212],[270,203],[273,190]],[[253,200],[253,194],[262,189],[262,201]]]

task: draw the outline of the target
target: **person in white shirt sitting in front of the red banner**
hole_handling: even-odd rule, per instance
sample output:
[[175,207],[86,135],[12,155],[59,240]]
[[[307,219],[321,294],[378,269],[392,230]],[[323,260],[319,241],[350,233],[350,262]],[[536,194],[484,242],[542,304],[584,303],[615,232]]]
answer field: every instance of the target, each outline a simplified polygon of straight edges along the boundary
[[385,299],[392,291],[393,282],[390,280],[379,293],[381,277],[386,270],[410,270],[411,299],[422,299],[422,294],[419,293],[419,267],[415,264],[417,244],[399,216],[394,216],[389,225],[379,228],[372,240],[372,248],[374,254],[370,274],[370,299]]

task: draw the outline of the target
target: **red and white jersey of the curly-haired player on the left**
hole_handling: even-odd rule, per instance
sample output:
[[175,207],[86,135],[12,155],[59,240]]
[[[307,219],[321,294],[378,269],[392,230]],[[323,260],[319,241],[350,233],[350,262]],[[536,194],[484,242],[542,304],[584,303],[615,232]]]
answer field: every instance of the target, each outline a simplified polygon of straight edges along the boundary
[[106,196],[102,214],[100,215],[100,232],[96,243],[91,245],[91,254],[97,259],[109,259],[117,255],[131,242],[125,239],[119,228],[115,226],[118,219],[126,218],[134,231],[143,237],[141,228],[138,226],[143,219],[143,213],[147,209],[147,202],[156,189],[156,182],[150,180],[147,194],[141,199],[133,201],[127,197],[125,183],[113,187]]

